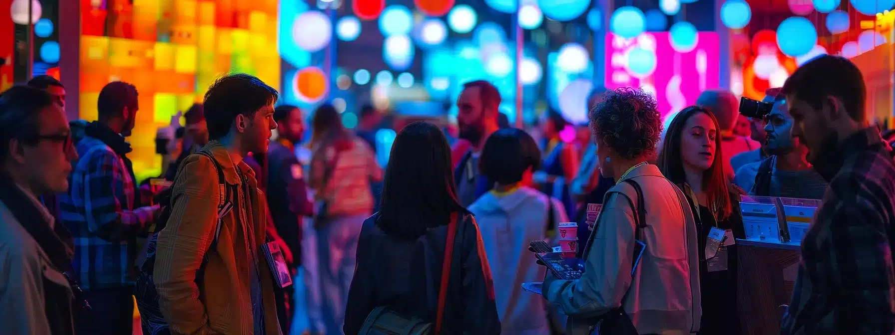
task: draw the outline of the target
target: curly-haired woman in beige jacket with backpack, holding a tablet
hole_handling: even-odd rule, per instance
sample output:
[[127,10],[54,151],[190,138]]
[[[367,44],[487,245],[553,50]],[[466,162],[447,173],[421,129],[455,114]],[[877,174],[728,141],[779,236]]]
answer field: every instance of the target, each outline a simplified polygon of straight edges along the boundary
[[662,129],[656,101],[642,90],[618,88],[590,119],[601,174],[616,185],[584,248],[584,276],[563,281],[548,272],[544,297],[569,315],[570,334],[590,333],[601,320],[601,333],[699,331],[693,214],[683,192],[648,163]]

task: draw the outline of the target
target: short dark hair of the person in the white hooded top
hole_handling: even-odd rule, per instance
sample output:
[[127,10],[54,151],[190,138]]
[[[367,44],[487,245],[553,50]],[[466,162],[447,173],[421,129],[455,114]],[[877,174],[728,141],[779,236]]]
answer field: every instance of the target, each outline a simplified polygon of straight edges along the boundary
[[514,184],[522,180],[529,168],[533,171],[541,168],[541,150],[524,130],[498,130],[485,140],[479,170],[489,180],[502,185]]

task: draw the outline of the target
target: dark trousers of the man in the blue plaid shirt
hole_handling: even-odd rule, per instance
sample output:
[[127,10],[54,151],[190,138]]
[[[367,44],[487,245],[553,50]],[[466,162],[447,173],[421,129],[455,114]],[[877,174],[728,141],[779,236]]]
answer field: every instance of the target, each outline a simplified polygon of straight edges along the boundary
[[89,289],[84,298],[90,311],[78,320],[79,335],[130,335],[133,333],[133,288]]

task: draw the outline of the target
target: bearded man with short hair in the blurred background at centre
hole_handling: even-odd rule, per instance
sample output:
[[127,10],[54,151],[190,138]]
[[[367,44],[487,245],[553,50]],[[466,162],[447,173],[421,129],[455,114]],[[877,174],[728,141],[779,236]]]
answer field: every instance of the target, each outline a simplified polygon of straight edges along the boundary
[[493,182],[481,176],[478,166],[485,139],[499,130],[499,105],[498,88],[485,80],[465,83],[463,92],[456,100],[456,124],[460,129],[460,138],[470,144],[454,169],[457,198],[461,205],[472,205],[475,199],[494,186]]

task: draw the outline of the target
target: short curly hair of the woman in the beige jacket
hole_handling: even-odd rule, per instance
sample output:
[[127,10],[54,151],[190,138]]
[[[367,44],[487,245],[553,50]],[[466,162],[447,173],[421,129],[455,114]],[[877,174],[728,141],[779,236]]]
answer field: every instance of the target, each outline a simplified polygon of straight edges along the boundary
[[591,131],[601,145],[625,159],[652,161],[662,132],[656,100],[641,89],[609,90],[590,112]]

